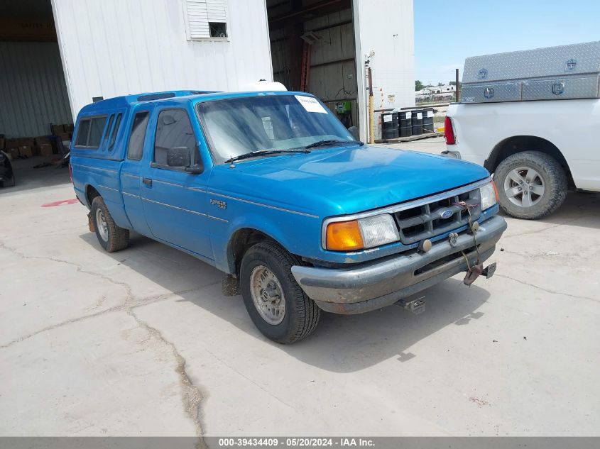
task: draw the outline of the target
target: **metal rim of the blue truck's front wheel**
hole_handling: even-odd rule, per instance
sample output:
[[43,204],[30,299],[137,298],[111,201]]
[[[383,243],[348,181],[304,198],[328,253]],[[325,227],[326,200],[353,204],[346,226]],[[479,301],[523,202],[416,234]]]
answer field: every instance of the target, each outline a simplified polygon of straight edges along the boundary
[[285,316],[285,296],[279,279],[264,265],[250,273],[250,294],[258,314],[264,321],[277,326]]

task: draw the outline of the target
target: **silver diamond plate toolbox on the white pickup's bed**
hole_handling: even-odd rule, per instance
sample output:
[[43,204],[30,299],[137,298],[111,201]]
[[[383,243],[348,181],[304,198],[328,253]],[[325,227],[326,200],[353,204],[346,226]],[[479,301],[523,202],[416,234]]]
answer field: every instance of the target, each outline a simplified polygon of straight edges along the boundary
[[600,98],[600,41],[468,57],[461,103]]

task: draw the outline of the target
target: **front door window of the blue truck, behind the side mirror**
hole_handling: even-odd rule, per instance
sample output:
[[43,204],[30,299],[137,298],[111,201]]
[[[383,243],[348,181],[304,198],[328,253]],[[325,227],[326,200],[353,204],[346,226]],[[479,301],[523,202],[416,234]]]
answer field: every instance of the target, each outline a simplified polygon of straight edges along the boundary
[[168,166],[167,153],[170,148],[187,148],[190,162],[198,162],[196,137],[187,112],[183,109],[167,109],[158,114],[156,139],[154,140],[154,162]]

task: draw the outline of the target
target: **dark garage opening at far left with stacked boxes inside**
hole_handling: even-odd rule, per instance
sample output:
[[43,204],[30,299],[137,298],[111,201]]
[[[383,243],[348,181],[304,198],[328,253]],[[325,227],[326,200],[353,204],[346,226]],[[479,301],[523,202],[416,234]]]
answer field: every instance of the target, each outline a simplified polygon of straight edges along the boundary
[[17,161],[39,164],[65,152],[72,123],[50,0],[2,1],[0,149],[16,167],[17,185],[19,168],[32,165]]

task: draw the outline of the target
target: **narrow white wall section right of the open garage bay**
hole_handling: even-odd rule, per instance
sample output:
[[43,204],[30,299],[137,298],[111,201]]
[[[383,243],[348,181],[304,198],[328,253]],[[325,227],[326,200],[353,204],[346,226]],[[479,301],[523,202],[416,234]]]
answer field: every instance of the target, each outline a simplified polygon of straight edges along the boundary
[[[364,72],[364,63],[370,60],[375,109],[415,106],[413,0],[354,0],[353,5],[356,66]],[[374,55],[369,58],[371,51]],[[368,86],[361,69],[359,74],[359,108],[364,112],[360,134],[366,139]]]

